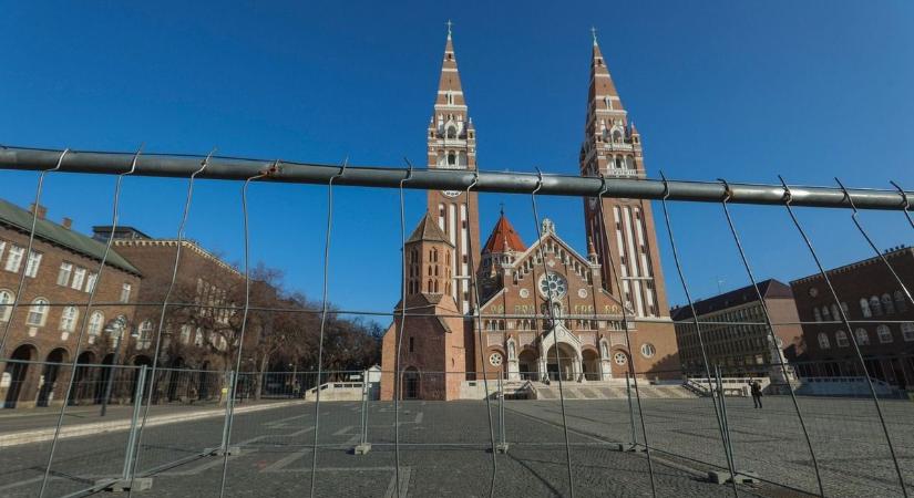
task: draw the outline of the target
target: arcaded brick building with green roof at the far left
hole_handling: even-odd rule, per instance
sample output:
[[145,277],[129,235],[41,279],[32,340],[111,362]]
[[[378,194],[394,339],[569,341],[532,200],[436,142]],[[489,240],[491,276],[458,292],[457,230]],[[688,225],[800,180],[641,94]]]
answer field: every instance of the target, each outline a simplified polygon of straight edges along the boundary
[[[35,236],[27,256],[34,210]],[[141,271],[114,250],[101,267],[104,242],[72,230],[68,218],[57,224],[45,215],[42,206],[25,210],[0,200],[0,332],[9,331],[0,357],[10,360],[0,362],[6,407],[60,403],[71,378],[60,364],[74,356],[79,366],[70,403],[100,402],[110,369],[91,365],[117,363],[135,331]]]

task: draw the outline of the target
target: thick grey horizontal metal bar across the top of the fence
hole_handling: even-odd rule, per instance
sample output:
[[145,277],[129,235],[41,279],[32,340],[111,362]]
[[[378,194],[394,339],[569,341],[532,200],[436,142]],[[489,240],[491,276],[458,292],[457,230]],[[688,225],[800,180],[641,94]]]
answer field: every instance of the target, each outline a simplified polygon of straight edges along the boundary
[[[42,170],[53,168],[62,151],[0,146],[0,169]],[[131,169],[134,153],[75,152],[63,158],[59,172],[122,174]],[[186,178],[198,170],[204,156],[144,154],[136,162],[133,176]],[[258,181],[297,184],[327,184],[340,173],[340,167],[325,164],[286,160],[212,157],[197,178],[243,180],[266,174]],[[399,188],[466,190],[473,185],[475,173],[465,169],[414,169],[390,167],[348,166],[335,185]],[[503,194],[530,194],[540,181],[535,174],[511,172],[480,172],[474,190]],[[603,191],[603,179],[597,177],[543,175],[538,195],[596,197]],[[718,181],[680,181],[666,184],[656,179],[606,177],[606,197],[660,199],[668,189],[669,200],[719,203],[725,187]],[[844,191],[836,187],[791,186],[793,206],[850,208]],[[861,209],[902,210],[904,196],[898,190],[849,189],[854,205]],[[780,185],[730,184],[730,203],[780,205],[785,190]],[[907,191],[914,198],[914,191]]]

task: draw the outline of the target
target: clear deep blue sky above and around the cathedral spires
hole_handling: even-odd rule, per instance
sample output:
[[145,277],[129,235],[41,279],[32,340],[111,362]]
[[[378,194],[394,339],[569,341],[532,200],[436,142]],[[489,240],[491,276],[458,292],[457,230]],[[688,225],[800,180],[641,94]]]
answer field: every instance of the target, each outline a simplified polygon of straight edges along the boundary
[[[590,27],[656,177],[914,188],[914,3],[769,2],[2,2],[0,144],[258,158],[424,164],[444,21],[454,21],[482,169],[576,174]],[[28,205],[37,175],[0,172]],[[49,217],[110,222],[113,178],[51,176]],[[202,181],[188,237],[242,257],[239,185]],[[122,224],[173,237],[186,183],[127,179]],[[251,258],[320,297],[326,187],[256,185]],[[528,243],[528,196],[499,203]],[[330,299],[389,311],[399,292],[397,190],[341,188]],[[671,205],[695,297],[747,282],[718,205]],[[407,195],[411,230],[424,209]],[[759,277],[814,271],[782,208],[735,207]],[[872,256],[843,210],[800,209],[829,266]],[[541,216],[584,250],[582,203]],[[671,303],[684,302],[655,206]],[[882,247],[914,241],[898,212],[863,220]],[[381,320],[382,322],[384,320]]]

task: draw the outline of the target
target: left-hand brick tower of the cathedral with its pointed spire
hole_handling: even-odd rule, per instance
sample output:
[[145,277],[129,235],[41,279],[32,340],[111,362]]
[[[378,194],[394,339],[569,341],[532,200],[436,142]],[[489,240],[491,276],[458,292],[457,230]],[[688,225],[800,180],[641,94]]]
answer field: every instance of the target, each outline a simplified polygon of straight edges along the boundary
[[[463,98],[460,73],[448,22],[448,41],[441,77],[434,101],[434,113],[428,129],[429,168],[476,169],[476,132]],[[429,212],[438,227],[454,246],[453,282],[451,295],[462,313],[470,312],[473,302],[469,277],[480,264],[479,203],[476,193],[461,190],[429,190]],[[473,253],[470,255],[472,247]],[[471,264],[474,268],[471,268]]]

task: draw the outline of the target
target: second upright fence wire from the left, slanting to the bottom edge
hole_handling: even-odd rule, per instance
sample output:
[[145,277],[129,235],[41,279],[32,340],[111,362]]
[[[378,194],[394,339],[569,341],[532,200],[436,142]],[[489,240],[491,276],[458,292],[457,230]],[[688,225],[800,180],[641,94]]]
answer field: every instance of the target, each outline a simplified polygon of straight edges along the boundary
[[[104,252],[102,253],[102,259],[99,261],[99,271],[97,277],[95,278],[95,283],[92,286],[92,291],[89,293],[89,299],[86,300],[85,304],[85,313],[82,317],[82,323],[80,324],[80,333],[76,335],[76,345],[73,351],[73,362],[70,364],[70,381],[66,383],[66,394],[63,396],[63,403],[60,405],[60,412],[58,413],[58,422],[54,426],[54,438],[51,440],[51,449],[48,452],[48,463],[44,467],[44,477],[41,479],[41,488],[38,491],[38,498],[42,498],[44,496],[44,491],[48,489],[48,479],[51,477],[51,466],[54,461],[54,453],[58,449],[58,440],[60,439],[60,430],[63,426],[63,416],[66,414],[66,404],[68,400],[70,400],[70,393],[73,391],[73,385],[76,381],[76,365],[80,361],[80,347],[82,346],[82,339],[85,335],[86,326],[89,325],[89,317],[92,313],[92,305],[95,302],[95,294],[99,292],[99,288],[102,287],[102,277],[104,274],[105,263],[107,262],[107,256],[111,253],[111,246],[114,243],[114,234],[115,229],[117,228],[117,218],[120,217],[119,206],[121,201],[121,186],[123,185],[124,177],[127,175],[132,175],[133,172],[136,170],[136,160],[140,158],[140,152],[142,151],[142,146],[140,151],[136,151],[136,154],[133,155],[133,160],[131,162],[130,169],[121,173],[117,175],[117,180],[114,184],[114,198],[112,200],[112,214],[111,214],[111,234],[107,237],[107,243],[105,243]],[[61,155],[61,158],[63,155]],[[60,165],[58,165],[60,166]],[[38,211],[38,206],[35,206],[35,212]],[[115,342],[115,347],[124,347],[123,344],[123,336],[124,330],[117,330],[117,334],[120,334],[120,339]],[[116,365],[112,362],[109,365],[109,382],[114,381],[114,374],[116,372]]]

